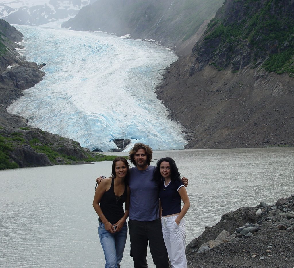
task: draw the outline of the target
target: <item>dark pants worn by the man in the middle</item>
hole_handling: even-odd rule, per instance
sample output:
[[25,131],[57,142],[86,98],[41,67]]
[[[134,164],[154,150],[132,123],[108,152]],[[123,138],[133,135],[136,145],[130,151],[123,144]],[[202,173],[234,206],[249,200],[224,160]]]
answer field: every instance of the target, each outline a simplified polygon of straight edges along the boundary
[[162,237],[161,221],[156,219],[149,222],[129,220],[131,240],[131,256],[134,268],[147,268],[147,246],[156,268],[168,268],[168,254]]

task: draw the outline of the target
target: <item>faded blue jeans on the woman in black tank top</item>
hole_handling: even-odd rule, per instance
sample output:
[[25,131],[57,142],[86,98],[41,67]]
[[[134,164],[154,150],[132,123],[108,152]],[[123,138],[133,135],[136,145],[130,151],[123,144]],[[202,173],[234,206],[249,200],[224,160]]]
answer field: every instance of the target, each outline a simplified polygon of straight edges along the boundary
[[123,250],[125,249],[128,226],[127,223],[119,232],[111,234],[105,230],[104,224],[99,223],[98,228],[101,246],[105,257],[105,268],[120,268],[120,262],[123,258]]

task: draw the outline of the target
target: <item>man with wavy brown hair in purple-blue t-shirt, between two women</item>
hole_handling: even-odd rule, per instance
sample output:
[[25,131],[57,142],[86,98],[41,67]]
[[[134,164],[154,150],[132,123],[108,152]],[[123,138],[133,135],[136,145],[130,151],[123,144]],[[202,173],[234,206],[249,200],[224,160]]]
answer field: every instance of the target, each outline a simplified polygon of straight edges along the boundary
[[130,169],[129,175],[131,194],[128,221],[134,267],[148,267],[146,256],[149,241],[156,268],[168,268],[168,254],[159,218],[159,187],[153,180],[155,167],[150,166],[152,149],[143,143],[136,143],[129,159],[136,165]]

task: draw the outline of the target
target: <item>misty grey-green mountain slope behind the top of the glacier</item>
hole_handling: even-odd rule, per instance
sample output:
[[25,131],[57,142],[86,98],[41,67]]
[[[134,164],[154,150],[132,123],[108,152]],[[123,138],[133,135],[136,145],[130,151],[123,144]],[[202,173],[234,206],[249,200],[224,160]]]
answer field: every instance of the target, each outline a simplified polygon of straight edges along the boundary
[[198,30],[203,31],[222,4],[223,0],[97,0],[83,7],[62,27],[118,36],[130,34],[134,39],[153,39],[176,50],[181,44],[178,52],[182,53],[189,40],[196,42]]

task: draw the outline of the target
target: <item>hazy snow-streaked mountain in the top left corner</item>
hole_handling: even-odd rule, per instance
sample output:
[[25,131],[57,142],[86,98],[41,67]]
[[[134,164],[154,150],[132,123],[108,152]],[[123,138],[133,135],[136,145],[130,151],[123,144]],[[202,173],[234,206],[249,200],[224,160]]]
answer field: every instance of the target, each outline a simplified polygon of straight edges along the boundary
[[1,0],[0,18],[11,24],[42,25],[75,16],[94,0]]

